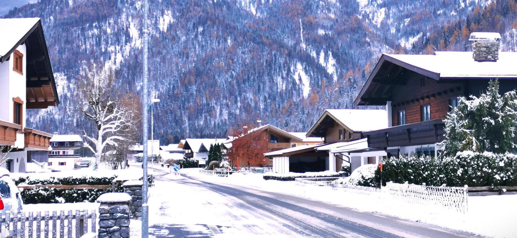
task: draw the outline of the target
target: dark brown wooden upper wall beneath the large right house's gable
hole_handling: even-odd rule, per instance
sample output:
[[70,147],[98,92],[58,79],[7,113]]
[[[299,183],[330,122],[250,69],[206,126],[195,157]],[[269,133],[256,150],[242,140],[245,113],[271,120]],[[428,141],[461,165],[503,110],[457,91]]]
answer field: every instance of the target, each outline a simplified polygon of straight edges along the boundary
[[392,91],[392,125],[400,125],[398,112],[402,110],[406,111],[406,124],[421,122],[420,107],[426,104],[431,106],[431,120],[443,119],[449,111],[449,98],[464,94],[463,83],[439,83],[426,78],[422,84],[420,77],[409,79],[406,85]]

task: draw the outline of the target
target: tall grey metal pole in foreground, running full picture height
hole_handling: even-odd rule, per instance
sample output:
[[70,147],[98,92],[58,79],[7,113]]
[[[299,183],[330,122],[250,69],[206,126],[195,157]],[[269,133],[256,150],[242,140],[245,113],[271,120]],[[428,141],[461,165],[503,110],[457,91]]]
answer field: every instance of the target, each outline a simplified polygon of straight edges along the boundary
[[144,0],[143,3],[144,7],[144,22],[143,22],[143,31],[144,31],[144,39],[143,39],[143,53],[144,53],[144,59],[143,59],[143,77],[142,77],[142,140],[144,141],[144,150],[143,150],[143,160],[142,160],[142,168],[144,170],[144,174],[142,176],[142,237],[148,238],[149,236],[149,207],[147,204],[147,190],[148,190],[148,182],[147,182],[147,139],[148,139],[148,131],[147,131],[147,109],[148,109],[148,103],[149,99],[147,98],[147,41],[149,38],[149,31],[147,29],[147,19],[148,19],[148,11],[149,11],[149,1]]

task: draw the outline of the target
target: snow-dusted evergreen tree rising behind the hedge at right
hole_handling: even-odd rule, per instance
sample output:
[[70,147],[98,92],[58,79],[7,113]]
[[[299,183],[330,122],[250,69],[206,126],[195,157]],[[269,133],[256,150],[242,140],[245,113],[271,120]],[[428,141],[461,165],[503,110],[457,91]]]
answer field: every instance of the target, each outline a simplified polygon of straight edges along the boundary
[[443,156],[461,151],[506,153],[515,147],[517,96],[499,94],[499,82],[491,80],[486,93],[470,100],[460,98],[445,122]]

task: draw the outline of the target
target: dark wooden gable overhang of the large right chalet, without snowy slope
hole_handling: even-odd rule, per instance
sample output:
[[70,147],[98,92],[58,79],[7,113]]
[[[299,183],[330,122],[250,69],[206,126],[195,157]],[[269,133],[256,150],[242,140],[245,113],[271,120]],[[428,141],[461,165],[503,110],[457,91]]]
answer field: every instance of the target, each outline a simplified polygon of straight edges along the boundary
[[385,93],[390,87],[405,85],[408,75],[418,73],[430,79],[439,80],[440,73],[417,67],[387,54],[381,55],[366,83],[354,100],[354,105],[386,105],[389,97]]

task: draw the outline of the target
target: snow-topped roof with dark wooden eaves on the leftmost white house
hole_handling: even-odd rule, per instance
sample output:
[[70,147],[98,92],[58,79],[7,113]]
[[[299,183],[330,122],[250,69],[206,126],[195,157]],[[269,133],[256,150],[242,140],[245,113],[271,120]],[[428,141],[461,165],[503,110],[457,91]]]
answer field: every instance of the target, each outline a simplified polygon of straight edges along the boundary
[[[47,42],[39,18],[0,19],[0,63],[10,59],[21,44],[25,44],[23,56],[27,66],[27,109],[44,109],[59,105],[54,73],[50,64]],[[31,90],[41,88],[39,90]],[[41,93],[40,93],[41,92]]]

